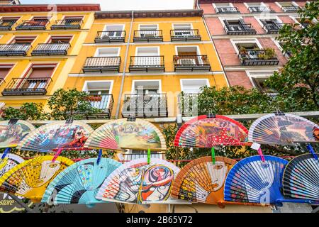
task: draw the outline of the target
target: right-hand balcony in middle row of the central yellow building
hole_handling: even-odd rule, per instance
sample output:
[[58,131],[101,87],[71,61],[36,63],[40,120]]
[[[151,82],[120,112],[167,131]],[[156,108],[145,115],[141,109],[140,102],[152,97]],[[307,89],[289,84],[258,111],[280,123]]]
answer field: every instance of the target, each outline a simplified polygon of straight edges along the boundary
[[174,55],[174,71],[186,70],[193,72],[194,70],[211,71],[207,55]]

